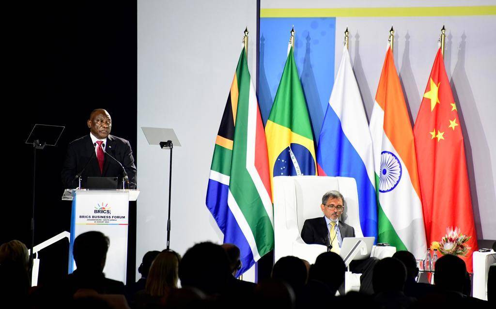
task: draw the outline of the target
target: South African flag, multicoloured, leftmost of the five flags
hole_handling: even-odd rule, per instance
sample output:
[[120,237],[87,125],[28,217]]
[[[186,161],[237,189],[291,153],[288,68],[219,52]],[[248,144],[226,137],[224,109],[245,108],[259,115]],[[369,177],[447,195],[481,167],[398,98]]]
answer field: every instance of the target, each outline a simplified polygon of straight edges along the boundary
[[267,144],[245,49],[215,140],[206,205],[224,243],[241,250],[238,276],[274,248]]

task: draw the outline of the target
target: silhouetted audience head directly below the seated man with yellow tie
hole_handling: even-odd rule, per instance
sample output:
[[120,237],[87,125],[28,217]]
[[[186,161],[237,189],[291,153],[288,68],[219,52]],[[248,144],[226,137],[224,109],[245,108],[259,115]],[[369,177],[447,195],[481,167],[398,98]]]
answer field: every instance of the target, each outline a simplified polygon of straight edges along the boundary
[[320,253],[315,259],[315,264],[311,265],[309,280],[323,282],[335,294],[344,282],[345,272],[346,265],[339,254],[324,252]]

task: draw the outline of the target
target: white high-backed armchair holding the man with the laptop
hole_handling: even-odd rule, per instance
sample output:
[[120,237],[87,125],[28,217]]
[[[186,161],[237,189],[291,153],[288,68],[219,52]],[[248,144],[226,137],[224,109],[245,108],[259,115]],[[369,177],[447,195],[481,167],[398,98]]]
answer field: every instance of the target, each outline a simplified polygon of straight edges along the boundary
[[[357,184],[349,177],[279,176],[274,177],[274,260],[293,255],[315,262],[317,256],[326,251],[322,245],[306,244],[301,238],[306,219],[323,216],[320,209],[322,195],[329,190],[343,194],[345,211],[341,220],[355,228],[355,236],[363,237],[360,226]],[[372,256],[392,256],[394,247],[375,247]],[[346,265],[348,266],[348,265]],[[358,290],[360,274],[347,272],[345,292]]]

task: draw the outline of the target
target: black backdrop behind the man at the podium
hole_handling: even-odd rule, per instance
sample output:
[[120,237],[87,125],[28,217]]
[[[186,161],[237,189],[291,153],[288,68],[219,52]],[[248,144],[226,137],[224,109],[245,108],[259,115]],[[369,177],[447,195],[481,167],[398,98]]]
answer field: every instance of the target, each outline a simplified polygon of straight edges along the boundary
[[[56,147],[39,150],[35,244],[70,229],[60,172],[67,144],[89,130],[95,108],[112,116],[112,134],[136,159],[136,1],[13,1],[3,7],[3,184],[0,244],[31,242],[34,124],[63,125]],[[18,3],[21,2],[21,3]],[[139,167],[138,167],[139,168]],[[135,203],[130,207],[128,281],[134,280]],[[67,272],[68,243],[42,250],[39,283]]]

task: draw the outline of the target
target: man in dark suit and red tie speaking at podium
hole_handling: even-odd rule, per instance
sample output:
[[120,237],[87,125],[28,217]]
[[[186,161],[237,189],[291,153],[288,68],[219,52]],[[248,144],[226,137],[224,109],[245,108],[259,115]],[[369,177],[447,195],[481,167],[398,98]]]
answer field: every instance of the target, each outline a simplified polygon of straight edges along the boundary
[[[129,178],[129,188],[136,188],[136,167],[131,145],[124,138],[110,135],[112,119],[104,109],[96,109],[87,121],[90,133],[69,143],[62,167],[62,183],[66,188],[78,186],[77,174],[81,173],[81,186],[87,177],[124,177],[123,167]],[[119,161],[121,165],[116,162]]]

